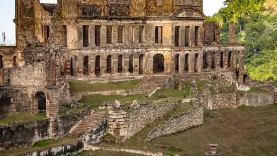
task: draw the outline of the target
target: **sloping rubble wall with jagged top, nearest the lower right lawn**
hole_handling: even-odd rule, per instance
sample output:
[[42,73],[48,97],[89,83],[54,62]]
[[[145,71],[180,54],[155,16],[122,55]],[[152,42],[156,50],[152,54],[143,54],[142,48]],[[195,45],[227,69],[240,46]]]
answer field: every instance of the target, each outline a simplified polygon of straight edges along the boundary
[[165,122],[164,125],[158,125],[149,132],[145,142],[151,141],[154,138],[178,133],[194,126],[199,126],[204,123],[204,108],[197,106],[189,112],[181,113],[177,116],[172,116]]

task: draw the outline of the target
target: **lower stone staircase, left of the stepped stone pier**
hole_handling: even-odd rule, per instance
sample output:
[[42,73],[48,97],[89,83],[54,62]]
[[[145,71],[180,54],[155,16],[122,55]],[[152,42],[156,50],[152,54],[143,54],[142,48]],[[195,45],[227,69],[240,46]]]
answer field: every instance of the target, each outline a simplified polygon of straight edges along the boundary
[[77,125],[71,132],[69,132],[69,136],[76,136],[77,133],[82,132],[86,133],[93,129],[98,121],[107,117],[107,112],[95,112],[94,114],[85,118],[81,123]]

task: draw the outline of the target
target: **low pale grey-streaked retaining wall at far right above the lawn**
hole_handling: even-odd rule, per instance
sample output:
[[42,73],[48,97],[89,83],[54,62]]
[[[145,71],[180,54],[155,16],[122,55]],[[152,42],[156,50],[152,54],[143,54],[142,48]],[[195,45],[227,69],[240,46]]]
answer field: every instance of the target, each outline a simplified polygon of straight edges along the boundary
[[274,103],[274,94],[243,93],[239,94],[239,104],[245,106],[265,106]]

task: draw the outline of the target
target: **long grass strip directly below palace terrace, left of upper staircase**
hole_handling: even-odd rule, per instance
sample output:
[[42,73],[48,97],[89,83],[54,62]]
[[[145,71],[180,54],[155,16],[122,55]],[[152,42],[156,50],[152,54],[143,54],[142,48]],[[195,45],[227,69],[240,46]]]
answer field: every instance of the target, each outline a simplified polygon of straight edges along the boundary
[[139,81],[130,81],[124,83],[88,83],[84,81],[72,81],[69,82],[69,91],[71,93],[81,93],[81,92],[102,92],[102,91],[112,91],[112,90],[125,90],[133,89]]

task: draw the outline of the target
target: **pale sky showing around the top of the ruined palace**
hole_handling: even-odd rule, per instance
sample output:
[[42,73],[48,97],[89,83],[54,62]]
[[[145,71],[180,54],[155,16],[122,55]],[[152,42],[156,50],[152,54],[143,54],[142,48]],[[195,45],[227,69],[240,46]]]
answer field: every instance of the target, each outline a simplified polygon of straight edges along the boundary
[[[203,12],[206,16],[213,16],[223,7],[224,0],[203,0]],[[41,3],[57,3],[57,0],[40,0]],[[0,34],[6,33],[6,45],[16,44],[15,0],[0,0]],[[2,37],[0,44],[2,44]]]

